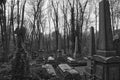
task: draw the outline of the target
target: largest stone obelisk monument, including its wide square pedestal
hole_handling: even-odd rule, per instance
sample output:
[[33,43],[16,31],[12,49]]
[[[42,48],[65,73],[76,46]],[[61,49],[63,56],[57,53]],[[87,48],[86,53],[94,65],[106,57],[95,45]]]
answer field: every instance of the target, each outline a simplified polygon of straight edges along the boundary
[[99,41],[93,58],[95,80],[120,80],[120,57],[113,48],[108,0],[99,3]]

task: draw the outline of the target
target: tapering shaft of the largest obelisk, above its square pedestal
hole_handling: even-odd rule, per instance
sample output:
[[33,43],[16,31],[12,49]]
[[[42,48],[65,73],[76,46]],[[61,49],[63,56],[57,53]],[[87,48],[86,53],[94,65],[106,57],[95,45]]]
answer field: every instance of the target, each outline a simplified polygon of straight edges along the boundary
[[113,37],[108,0],[102,0],[99,3],[99,41],[97,52],[106,57],[116,54],[113,50]]

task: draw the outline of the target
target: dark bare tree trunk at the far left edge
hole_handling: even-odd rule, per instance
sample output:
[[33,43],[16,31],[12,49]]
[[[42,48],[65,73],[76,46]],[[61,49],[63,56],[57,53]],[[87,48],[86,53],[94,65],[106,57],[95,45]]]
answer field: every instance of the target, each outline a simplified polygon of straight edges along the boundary
[[6,28],[6,0],[2,0],[0,3],[1,7],[1,36],[2,36],[2,46],[3,46],[3,61],[8,59],[8,35]]

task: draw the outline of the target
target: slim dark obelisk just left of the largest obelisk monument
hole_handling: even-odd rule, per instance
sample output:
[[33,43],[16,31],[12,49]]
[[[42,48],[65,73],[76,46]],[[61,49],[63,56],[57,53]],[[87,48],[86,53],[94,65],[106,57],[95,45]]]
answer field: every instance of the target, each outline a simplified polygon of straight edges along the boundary
[[90,28],[90,54],[88,54],[87,58],[87,67],[85,68],[85,77],[86,78],[92,78],[94,77],[92,74],[94,74],[94,61],[93,61],[93,55],[95,55],[95,34],[94,34],[94,28]]

